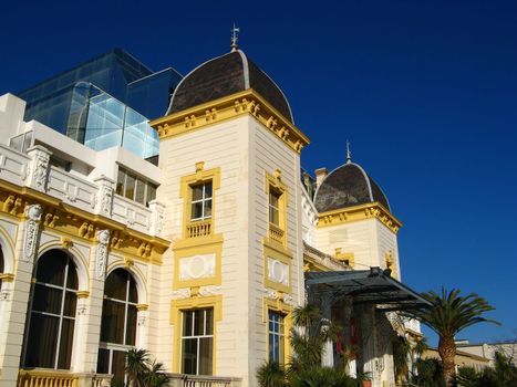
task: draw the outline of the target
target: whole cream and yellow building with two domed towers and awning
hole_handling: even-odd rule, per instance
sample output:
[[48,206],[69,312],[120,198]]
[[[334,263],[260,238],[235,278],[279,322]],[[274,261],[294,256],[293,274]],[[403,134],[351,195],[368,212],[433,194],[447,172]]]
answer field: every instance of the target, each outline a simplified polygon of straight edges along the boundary
[[[306,297],[359,348],[349,373],[394,385],[396,311],[425,301],[400,282],[382,189],[350,153],[302,174],[309,139],[236,46],[182,79],[164,113],[154,165],[0,97],[0,386],[101,386],[135,346],[185,385],[257,386],[265,359],[289,360]],[[341,355],[328,343],[323,363]]]

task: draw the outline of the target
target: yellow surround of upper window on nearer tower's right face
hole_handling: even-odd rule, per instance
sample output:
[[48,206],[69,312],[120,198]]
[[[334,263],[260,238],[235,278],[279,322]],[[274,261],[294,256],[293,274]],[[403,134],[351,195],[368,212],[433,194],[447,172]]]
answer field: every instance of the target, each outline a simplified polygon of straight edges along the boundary
[[[278,195],[278,227],[269,222],[269,194],[271,189]],[[266,172],[265,184],[266,197],[268,200],[268,240],[271,243],[279,243],[287,248],[287,207],[289,202],[289,189],[281,180],[280,169],[276,169],[273,175]]]

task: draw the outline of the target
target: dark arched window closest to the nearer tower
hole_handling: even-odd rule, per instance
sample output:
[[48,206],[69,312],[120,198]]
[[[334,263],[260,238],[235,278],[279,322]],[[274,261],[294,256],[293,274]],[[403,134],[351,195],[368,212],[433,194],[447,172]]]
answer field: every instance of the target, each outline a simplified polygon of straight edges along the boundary
[[97,373],[124,380],[124,355],[136,339],[137,303],[133,276],[124,269],[113,271],[104,284]]

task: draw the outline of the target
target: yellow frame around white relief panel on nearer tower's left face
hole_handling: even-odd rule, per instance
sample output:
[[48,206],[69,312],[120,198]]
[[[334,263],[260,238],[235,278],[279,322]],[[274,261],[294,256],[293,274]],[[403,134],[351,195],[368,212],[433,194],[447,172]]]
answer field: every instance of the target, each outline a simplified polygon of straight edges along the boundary
[[[179,264],[182,259],[215,254],[216,268],[214,276],[205,276],[194,280],[179,280]],[[220,285],[221,283],[221,254],[223,254],[223,236],[215,234],[213,238],[192,238],[183,240],[174,247],[174,280],[173,289],[205,285]]]

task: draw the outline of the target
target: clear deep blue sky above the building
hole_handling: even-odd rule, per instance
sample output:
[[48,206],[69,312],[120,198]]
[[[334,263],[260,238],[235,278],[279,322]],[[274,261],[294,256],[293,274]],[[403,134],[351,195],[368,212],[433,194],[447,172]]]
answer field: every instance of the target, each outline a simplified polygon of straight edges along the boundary
[[[517,2],[9,1],[0,93],[114,46],[187,73],[239,45],[287,94],[308,170],[355,161],[383,187],[403,280],[477,292],[517,328]],[[80,4],[80,6],[77,6]],[[432,337],[431,337],[432,338]],[[433,338],[432,338],[433,342]]]

